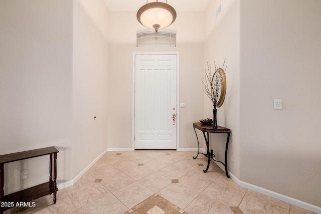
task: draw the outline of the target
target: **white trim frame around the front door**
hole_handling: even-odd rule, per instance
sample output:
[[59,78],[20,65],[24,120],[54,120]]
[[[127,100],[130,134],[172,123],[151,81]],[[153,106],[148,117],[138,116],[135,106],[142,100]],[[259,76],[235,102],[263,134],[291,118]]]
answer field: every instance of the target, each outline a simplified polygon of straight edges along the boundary
[[179,52],[133,52],[132,53],[132,120],[131,148],[135,150],[135,58],[136,55],[175,55],[176,56],[176,150],[180,149],[180,53]]

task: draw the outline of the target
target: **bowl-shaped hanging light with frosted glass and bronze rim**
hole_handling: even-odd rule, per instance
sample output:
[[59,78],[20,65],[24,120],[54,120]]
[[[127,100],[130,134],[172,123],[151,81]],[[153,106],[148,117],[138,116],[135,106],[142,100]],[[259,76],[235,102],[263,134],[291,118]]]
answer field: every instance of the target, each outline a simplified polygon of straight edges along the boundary
[[137,11],[137,20],[140,24],[146,28],[154,29],[156,32],[158,29],[166,28],[176,20],[175,9],[163,2],[152,2],[139,8]]

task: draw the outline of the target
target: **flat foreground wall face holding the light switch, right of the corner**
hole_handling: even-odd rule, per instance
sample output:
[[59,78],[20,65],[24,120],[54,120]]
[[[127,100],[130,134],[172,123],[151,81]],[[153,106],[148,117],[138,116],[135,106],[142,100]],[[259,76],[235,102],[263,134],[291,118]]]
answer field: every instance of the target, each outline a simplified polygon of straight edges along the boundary
[[240,11],[239,178],[321,206],[321,2],[245,0]]

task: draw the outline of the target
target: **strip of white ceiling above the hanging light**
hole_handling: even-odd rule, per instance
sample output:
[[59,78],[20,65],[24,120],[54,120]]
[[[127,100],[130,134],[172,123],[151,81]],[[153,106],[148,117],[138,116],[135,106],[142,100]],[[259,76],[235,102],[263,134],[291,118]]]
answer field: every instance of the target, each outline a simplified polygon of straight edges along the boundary
[[[204,11],[210,0],[168,0],[177,12],[184,11]],[[104,0],[109,11],[137,11],[141,6],[146,4],[146,0]],[[156,2],[150,0],[148,3]],[[158,2],[166,3],[166,0]]]

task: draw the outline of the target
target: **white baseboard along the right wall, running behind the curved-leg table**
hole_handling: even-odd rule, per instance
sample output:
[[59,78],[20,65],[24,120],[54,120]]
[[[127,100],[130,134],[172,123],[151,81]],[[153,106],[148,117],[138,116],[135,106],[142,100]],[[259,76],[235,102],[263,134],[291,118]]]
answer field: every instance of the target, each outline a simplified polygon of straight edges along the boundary
[[[203,152],[206,153],[205,149],[200,149],[200,150],[203,150]],[[222,163],[215,162],[214,160],[213,160],[213,162],[216,163],[225,172],[225,166]],[[321,214],[321,207],[319,207],[319,206],[315,206],[313,204],[306,203],[304,201],[301,201],[301,200],[298,200],[298,199],[295,199],[295,198],[292,198],[292,197],[289,197],[289,196],[286,196],[286,195],[283,195],[283,194],[280,194],[280,193],[277,193],[277,192],[274,192],[274,191],[271,191],[271,190],[268,190],[268,189],[265,189],[265,188],[262,188],[260,186],[256,186],[256,185],[244,182],[242,180],[239,180],[237,177],[235,177],[230,171],[228,171],[228,173],[229,173],[230,177],[239,186],[242,186],[242,187],[247,188],[247,189],[251,189],[251,190],[256,191],[256,192],[260,192],[260,193],[265,194],[267,196],[274,197],[276,199],[279,199],[279,200],[282,200],[284,202],[293,204],[293,205],[301,207],[303,209],[307,209],[307,210],[310,210],[312,212]]]

